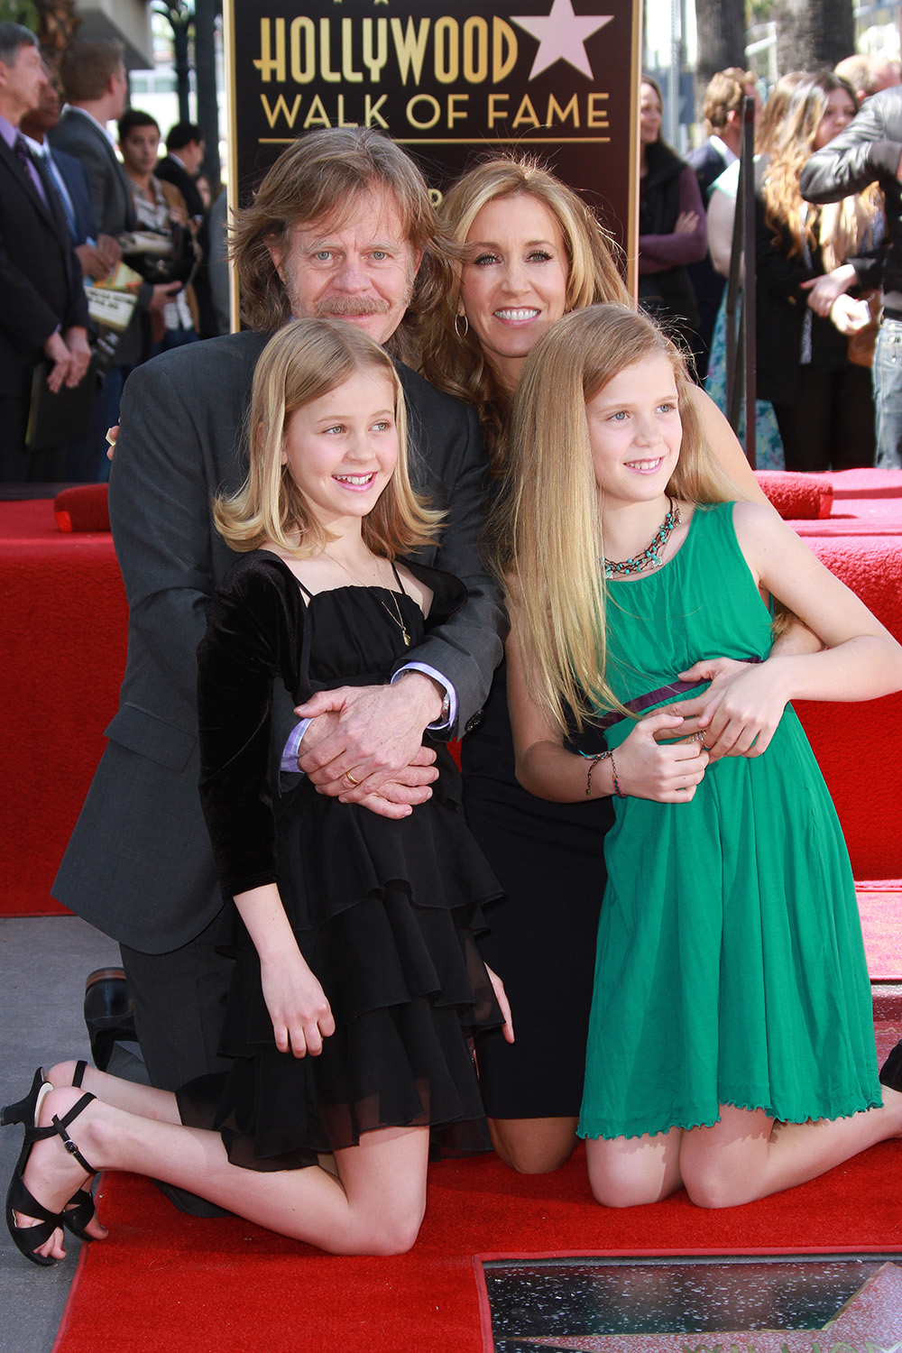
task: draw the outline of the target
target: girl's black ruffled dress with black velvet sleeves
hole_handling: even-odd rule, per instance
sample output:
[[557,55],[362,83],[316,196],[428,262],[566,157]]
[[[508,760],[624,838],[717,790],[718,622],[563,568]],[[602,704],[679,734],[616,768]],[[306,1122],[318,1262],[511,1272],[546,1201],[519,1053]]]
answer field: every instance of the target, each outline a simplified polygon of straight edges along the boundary
[[[433,590],[429,621],[406,594],[341,587],[307,601],[287,564],[245,555],[210,603],[197,656],[200,794],[235,958],[222,1076],[179,1092],[184,1123],[222,1132],[250,1169],[314,1165],[361,1132],[430,1126],[433,1155],[491,1149],[468,1035],[500,1024],[473,935],[500,889],[467,829],[460,774],[437,746],[429,802],[392,821],[302,781],[272,792],[273,682],[300,704],[312,691],[385,682],[414,644],[464,601],[449,574],[408,566]],[[231,901],[279,884],[302,954],[335,1019],[319,1057],[275,1045],[260,963]]]

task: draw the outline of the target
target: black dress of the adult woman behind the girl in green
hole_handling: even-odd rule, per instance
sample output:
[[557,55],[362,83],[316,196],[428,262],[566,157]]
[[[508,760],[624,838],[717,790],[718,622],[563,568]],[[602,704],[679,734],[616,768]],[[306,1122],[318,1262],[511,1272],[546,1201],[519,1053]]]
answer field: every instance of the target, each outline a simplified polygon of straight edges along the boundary
[[[596,752],[604,743],[588,731],[577,746]],[[576,1118],[611,801],[552,804],[518,785],[504,664],[483,723],[461,743],[461,763],[467,823],[504,889],[485,908],[479,947],[504,981],[515,1034],[513,1045],[500,1030],[476,1039],[485,1112]]]

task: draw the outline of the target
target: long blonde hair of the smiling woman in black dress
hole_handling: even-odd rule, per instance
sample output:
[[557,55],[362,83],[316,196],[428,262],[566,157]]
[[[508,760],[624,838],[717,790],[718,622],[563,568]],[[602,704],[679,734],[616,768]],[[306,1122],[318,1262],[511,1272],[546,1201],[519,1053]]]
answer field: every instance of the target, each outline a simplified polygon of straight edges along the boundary
[[[495,156],[475,165],[450,188],[441,206],[448,234],[464,244],[476,215],[499,198],[536,198],[557,222],[567,254],[567,308],[581,310],[599,300],[629,304],[629,292],[617,267],[619,249],[586,203],[537,160]],[[422,325],[423,375],[457,399],[475,405],[483,425],[492,474],[503,469],[503,437],[510,417],[510,395],[499,386],[479,340],[457,330],[460,265],[452,287]]]

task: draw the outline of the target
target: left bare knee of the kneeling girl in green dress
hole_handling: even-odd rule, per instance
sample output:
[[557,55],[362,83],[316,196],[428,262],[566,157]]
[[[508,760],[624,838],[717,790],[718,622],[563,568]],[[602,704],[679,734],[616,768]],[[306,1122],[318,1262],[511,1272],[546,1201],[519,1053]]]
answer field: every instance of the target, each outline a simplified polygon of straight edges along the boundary
[[590,1138],[588,1181],[598,1201],[606,1207],[638,1207],[676,1192],[683,1183],[682,1137],[682,1128],[672,1127],[655,1137]]

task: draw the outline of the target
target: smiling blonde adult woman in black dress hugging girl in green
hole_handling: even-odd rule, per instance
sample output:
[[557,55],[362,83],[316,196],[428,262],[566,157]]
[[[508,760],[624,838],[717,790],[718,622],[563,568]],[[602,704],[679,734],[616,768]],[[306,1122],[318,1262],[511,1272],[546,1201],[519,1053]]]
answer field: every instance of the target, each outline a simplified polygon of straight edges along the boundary
[[[425,372],[476,406],[500,476],[511,400],[538,340],[567,311],[629,298],[610,237],[577,193],[533,160],[476,165],[442,214],[467,260],[427,315]],[[690,399],[718,457],[760,497],[723,417],[701,391]],[[603,741],[586,729],[579,746],[598,751]],[[467,820],[504,889],[487,909],[481,950],[504,976],[517,1027],[513,1045],[495,1032],[477,1040],[490,1128],[511,1166],[552,1170],[576,1145],[610,804],[542,802],[517,783],[503,667],[461,758]]]

